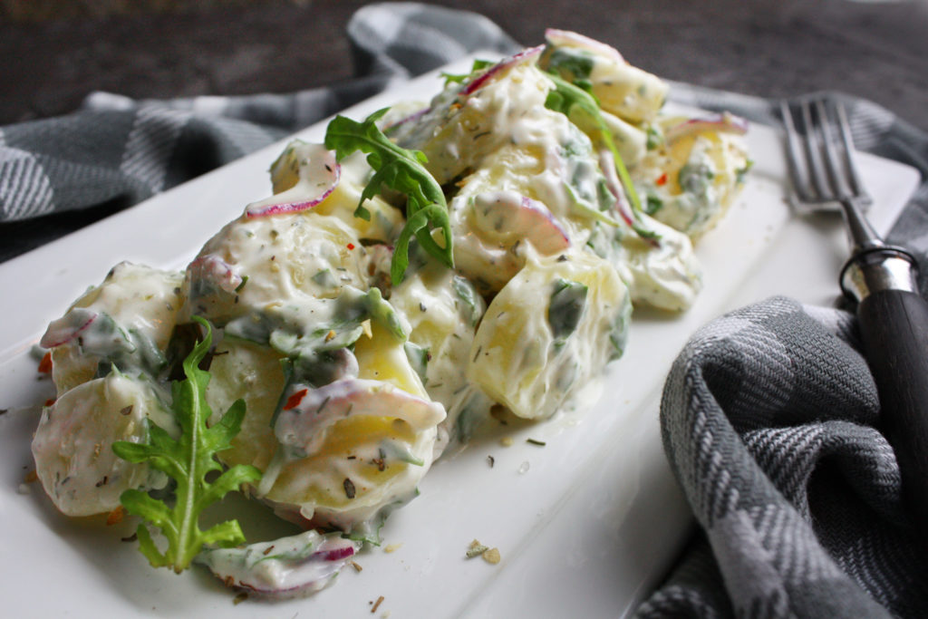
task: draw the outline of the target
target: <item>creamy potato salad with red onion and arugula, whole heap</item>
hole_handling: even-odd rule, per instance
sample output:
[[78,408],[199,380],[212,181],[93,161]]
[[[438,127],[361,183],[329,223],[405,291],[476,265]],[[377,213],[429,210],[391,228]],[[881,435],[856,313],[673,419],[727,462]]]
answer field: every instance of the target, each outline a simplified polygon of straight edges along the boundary
[[[633,308],[694,302],[741,119],[664,113],[667,84],[574,32],[443,80],[290,142],[183,272],[117,264],[49,325],[32,454],[62,513],[138,516],[155,566],[315,591],[491,411],[552,417]],[[201,532],[237,490],[303,534]]]

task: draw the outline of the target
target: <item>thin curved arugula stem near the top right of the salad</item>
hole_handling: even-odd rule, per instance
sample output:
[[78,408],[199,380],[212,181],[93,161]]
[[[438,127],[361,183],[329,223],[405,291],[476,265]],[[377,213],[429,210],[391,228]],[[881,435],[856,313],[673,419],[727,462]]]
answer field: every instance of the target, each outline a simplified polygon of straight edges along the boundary
[[555,73],[548,73],[548,78],[554,82],[554,90],[548,93],[545,100],[545,107],[548,110],[560,111],[567,116],[572,123],[577,125],[581,131],[589,135],[594,142],[599,142],[612,152],[612,159],[615,161],[615,172],[625,187],[625,193],[628,194],[628,200],[632,204],[632,213],[635,215],[636,222],[632,226],[638,236],[645,239],[659,238],[656,233],[647,228],[640,226],[638,223],[638,214],[642,212],[641,201],[638,200],[638,192],[632,184],[632,178],[625,168],[625,162],[619,154],[619,149],[615,146],[612,139],[612,131],[609,125],[599,112],[599,102],[596,97],[586,92],[583,88],[571,84],[562,79]]

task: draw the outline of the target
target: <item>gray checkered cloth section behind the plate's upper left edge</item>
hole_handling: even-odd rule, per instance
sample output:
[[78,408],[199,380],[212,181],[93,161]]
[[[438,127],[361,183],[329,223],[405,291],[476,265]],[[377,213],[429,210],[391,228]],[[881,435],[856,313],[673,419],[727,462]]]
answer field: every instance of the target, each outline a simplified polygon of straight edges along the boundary
[[[368,5],[348,24],[357,79],[288,95],[140,100],[0,128],[0,261],[276,142],[470,52],[520,49],[482,15]],[[73,213],[81,211],[81,213]]]

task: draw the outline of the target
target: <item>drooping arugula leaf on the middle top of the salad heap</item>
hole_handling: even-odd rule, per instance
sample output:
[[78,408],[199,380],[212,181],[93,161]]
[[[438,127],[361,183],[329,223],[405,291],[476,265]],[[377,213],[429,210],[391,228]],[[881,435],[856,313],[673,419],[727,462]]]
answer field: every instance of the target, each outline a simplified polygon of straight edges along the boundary
[[[361,192],[355,216],[370,218],[370,213],[363,206],[364,201],[377,195],[382,186],[406,194],[406,226],[396,241],[390,266],[390,276],[395,286],[406,273],[409,240],[414,236],[423,250],[445,265],[454,266],[454,258],[451,253],[451,223],[448,220],[445,193],[422,165],[429,161],[423,152],[393,144],[377,127],[376,122],[387,110],[375,111],[362,123],[336,116],[326,129],[325,144],[326,148],[335,150],[339,161],[355,150],[366,152],[367,163],[375,171]],[[435,229],[441,230],[444,247],[432,238],[432,230]]]

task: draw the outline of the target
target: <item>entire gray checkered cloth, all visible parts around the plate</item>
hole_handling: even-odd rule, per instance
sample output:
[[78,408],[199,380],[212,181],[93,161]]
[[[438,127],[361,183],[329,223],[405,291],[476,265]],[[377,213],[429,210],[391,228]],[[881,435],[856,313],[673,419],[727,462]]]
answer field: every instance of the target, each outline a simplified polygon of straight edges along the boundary
[[[45,242],[54,234],[49,217],[110,213],[392,80],[473,50],[518,47],[479,15],[417,4],[365,6],[348,33],[366,71],[339,88],[174,101],[97,94],[70,116],[4,127],[0,258]],[[687,84],[674,84],[672,97],[776,123],[763,99]],[[928,135],[868,101],[845,102],[860,148],[928,178]],[[891,239],[928,256],[928,182]],[[922,290],[925,277],[923,267]],[[928,561],[900,504],[896,460],[878,417],[850,314],[776,298],[697,332],[667,379],[661,423],[701,526],[638,615],[928,616]]]

